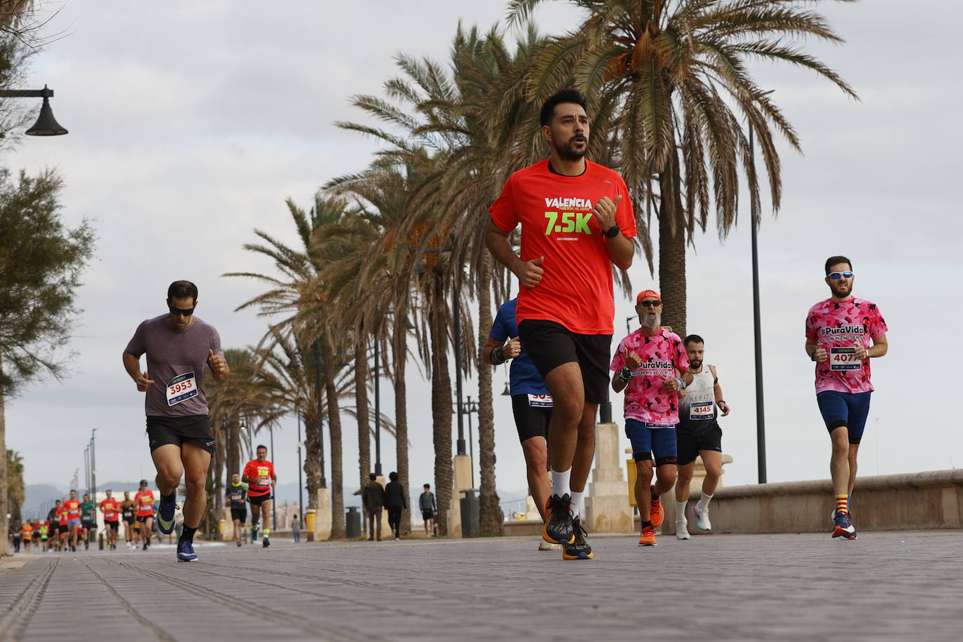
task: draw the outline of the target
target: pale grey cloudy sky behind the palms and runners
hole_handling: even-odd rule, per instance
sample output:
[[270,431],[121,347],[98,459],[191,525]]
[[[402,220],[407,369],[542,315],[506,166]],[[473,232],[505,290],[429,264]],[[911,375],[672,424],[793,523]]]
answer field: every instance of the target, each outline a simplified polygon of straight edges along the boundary
[[[83,450],[97,428],[100,479],[152,476],[143,397],[120,364],[137,324],[165,311],[170,281],[189,278],[200,289],[198,317],[220,330],[225,347],[256,343],[265,321],[233,309],[259,286],[221,274],[270,270],[242,249],[252,230],[292,239],[284,199],[308,207],[325,181],[369,162],[374,143],[332,124],[363,117],[349,96],[378,93],[396,74],[397,52],[444,59],[459,20],[487,28],[504,18],[505,5],[71,0],[44,7],[59,11],[48,28],[63,37],[35,57],[30,84],[56,90],[52,106],[70,134],[23,141],[2,162],[31,172],[56,167],[65,178],[65,218],[93,219],[99,240],[79,291],[87,312],[73,342],[73,374],[8,401],[8,446],[23,455],[28,483],[66,485],[74,469],[83,473]],[[802,331],[809,306],[827,295],[822,263],[839,253],[853,261],[856,294],[878,303],[890,327],[890,352],[873,362],[861,473],[948,469],[963,460],[963,437],[950,422],[952,390],[963,385],[952,330],[963,315],[963,223],[953,215],[961,125],[952,106],[961,90],[950,25],[963,10],[921,0],[908,12],[904,2],[873,0],[824,11],[846,44],[811,51],[860,101],[800,70],[755,69],[804,148],[804,155],[784,150],[783,206],[777,218],[766,209],[760,231],[768,478],[828,476],[829,440]],[[546,33],[578,16],[562,2],[537,13]],[[745,225],[723,244],[710,229],[690,250],[689,329],[705,337],[707,361],[733,408],[722,421],[723,448],[735,459],[729,485],[756,481],[750,270]],[[637,290],[658,287],[641,258],[631,275]],[[617,341],[633,312],[629,295],[616,294],[616,303]],[[921,334],[919,310],[934,308],[949,334]],[[947,367],[930,371],[931,360]],[[422,411],[429,384],[409,372],[411,483],[419,485],[431,481]],[[500,369],[496,392],[504,381]],[[390,386],[381,390],[390,411]],[[924,417],[923,397],[936,404],[932,418]],[[343,421],[350,480],[356,429]],[[496,396],[496,421],[498,486],[523,489],[508,398]],[[274,440],[279,477],[296,478],[293,418]],[[385,438],[386,471],[394,452]]]

